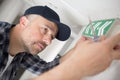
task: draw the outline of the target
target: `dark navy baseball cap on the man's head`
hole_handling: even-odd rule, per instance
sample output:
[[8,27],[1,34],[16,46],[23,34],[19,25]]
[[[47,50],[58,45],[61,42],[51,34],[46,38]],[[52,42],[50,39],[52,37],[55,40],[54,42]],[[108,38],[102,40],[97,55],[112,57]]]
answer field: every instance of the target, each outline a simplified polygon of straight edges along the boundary
[[56,35],[56,38],[58,40],[65,41],[70,37],[71,34],[70,27],[67,26],[66,24],[61,23],[58,14],[48,6],[32,6],[25,11],[24,16],[30,14],[40,15],[56,23],[58,27],[58,33]]

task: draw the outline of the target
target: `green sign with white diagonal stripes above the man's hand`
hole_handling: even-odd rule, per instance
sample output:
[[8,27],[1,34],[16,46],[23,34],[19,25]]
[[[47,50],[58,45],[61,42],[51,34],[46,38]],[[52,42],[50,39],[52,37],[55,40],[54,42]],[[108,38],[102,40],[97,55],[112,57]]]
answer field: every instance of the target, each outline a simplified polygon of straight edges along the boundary
[[[111,28],[114,21],[115,21],[115,19],[93,21],[92,26],[94,28],[96,35],[97,36],[105,35],[109,31],[109,29]],[[90,26],[91,26],[90,24],[88,24],[86,26],[86,28],[84,29],[84,31],[82,33],[83,35],[88,36],[88,37],[93,36],[92,29]]]

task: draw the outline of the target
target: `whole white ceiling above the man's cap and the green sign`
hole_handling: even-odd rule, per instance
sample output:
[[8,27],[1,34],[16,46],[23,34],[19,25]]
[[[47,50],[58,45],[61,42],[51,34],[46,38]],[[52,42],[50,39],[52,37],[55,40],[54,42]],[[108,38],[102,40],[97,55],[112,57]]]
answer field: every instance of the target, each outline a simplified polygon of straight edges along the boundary
[[[24,0],[28,5],[48,5],[61,20],[72,27],[85,26],[91,20],[120,17],[120,0]],[[28,7],[27,5],[27,7]]]

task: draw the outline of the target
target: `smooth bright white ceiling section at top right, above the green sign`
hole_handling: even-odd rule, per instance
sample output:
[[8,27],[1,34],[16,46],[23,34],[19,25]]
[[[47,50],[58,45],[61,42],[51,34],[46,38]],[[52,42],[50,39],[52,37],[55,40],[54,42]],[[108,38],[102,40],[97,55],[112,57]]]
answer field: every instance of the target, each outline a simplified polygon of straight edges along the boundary
[[93,20],[120,17],[120,0],[64,0]]

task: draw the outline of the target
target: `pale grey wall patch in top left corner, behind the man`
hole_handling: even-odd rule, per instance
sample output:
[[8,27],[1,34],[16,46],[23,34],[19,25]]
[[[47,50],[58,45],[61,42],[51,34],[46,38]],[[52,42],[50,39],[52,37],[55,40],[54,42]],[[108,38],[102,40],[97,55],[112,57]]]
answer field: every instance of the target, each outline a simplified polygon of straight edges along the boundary
[[12,23],[22,10],[22,6],[20,0],[4,0],[0,5],[0,20]]

